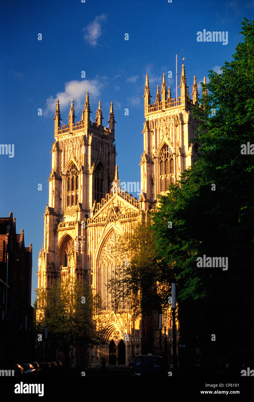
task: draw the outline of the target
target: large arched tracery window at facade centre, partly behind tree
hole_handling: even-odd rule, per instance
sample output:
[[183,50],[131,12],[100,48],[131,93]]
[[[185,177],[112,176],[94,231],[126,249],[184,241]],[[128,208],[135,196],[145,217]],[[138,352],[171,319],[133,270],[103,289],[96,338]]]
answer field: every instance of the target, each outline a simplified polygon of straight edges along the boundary
[[[118,277],[123,269],[123,259],[115,250],[115,245],[118,241],[118,234],[112,232],[107,238],[99,260],[99,288],[100,297],[102,298],[103,310],[111,310],[111,293],[107,289],[108,281],[114,276]],[[116,293],[117,294],[117,293]],[[119,297],[123,300],[123,295]],[[123,308],[123,303],[119,303],[119,308]]]

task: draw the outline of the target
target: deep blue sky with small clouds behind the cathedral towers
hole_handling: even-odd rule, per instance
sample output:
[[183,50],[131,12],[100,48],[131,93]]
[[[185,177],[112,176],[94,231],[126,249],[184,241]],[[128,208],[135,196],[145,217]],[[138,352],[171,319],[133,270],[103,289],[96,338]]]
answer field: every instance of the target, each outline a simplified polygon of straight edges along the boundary
[[[219,72],[225,60],[231,61],[242,41],[240,22],[244,16],[253,19],[254,1],[2,0],[0,8],[0,143],[14,144],[13,158],[0,155],[0,216],[12,211],[17,232],[25,231],[25,245],[33,244],[34,289],[57,97],[63,123],[68,123],[72,98],[80,120],[86,90],[93,121],[101,100],[104,126],[113,102],[119,178],[139,182],[145,74],[153,99],[163,73],[174,97],[177,53],[178,77],[184,57],[191,93],[194,74],[200,83],[208,70]],[[227,31],[228,44],[197,42],[203,29]],[[167,78],[168,71],[172,78]]]

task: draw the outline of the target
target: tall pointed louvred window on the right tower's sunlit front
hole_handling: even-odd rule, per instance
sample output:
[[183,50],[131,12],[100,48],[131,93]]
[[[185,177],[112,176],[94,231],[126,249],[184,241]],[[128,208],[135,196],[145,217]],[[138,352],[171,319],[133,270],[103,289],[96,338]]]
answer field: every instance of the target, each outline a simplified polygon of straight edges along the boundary
[[168,186],[174,183],[174,158],[165,144],[159,156],[160,193],[165,193]]

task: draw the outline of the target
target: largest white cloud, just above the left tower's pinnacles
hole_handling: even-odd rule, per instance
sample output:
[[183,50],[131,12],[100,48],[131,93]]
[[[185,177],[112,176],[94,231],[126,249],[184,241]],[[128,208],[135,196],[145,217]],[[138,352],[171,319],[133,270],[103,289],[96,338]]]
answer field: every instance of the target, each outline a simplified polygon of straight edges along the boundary
[[55,97],[51,95],[47,98],[45,114],[55,112],[57,98],[59,98],[60,110],[70,107],[72,99],[74,100],[75,109],[82,109],[86,91],[89,92],[90,101],[98,101],[100,88],[102,88],[102,86],[103,84],[96,79],[66,82],[64,92],[58,92]]

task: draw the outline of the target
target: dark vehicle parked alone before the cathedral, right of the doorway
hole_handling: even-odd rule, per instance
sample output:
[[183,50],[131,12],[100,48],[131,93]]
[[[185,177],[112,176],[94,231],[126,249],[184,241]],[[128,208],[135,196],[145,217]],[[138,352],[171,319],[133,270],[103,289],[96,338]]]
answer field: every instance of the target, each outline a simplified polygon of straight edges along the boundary
[[160,356],[138,355],[133,365],[133,375],[165,375],[164,362]]

